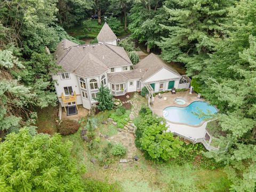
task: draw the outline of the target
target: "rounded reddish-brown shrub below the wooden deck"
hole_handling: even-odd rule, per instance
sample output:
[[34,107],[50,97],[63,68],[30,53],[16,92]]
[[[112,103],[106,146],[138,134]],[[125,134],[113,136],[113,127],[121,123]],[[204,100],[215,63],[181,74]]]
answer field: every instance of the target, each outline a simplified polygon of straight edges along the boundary
[[58,131],[61,135],[69,135],[77,132],[79,124],[72,120],[65,120],[58,126]]

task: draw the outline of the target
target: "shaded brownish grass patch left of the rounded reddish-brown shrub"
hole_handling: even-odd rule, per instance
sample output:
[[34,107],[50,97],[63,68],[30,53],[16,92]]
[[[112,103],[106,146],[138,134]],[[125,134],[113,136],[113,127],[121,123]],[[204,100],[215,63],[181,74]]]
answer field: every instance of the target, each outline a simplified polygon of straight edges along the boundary
[[57,133],[57,118],[59,107],[45,107],[43,109],[37,108],[37,123],[38,133],[47,133],[53,135]]

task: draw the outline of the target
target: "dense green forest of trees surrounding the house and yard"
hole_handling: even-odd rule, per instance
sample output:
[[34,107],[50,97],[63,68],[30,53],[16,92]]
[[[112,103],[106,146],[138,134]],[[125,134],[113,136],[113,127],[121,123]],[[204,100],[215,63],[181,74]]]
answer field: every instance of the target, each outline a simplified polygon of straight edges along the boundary
[[225,164],[230,191],[256,191],[253,0],[1,1],[0,190],[84,191],[71,144],[37,134],[36,109],[57,105],[51,74],[60,67],[49,53],[63,38],[83,43],[66,31],[94,14],[99,25],[115,17],[148,52],[157,48],[164,61],[186,67],[194,91],[218,107],[225,133],[227,150],[205,156]]

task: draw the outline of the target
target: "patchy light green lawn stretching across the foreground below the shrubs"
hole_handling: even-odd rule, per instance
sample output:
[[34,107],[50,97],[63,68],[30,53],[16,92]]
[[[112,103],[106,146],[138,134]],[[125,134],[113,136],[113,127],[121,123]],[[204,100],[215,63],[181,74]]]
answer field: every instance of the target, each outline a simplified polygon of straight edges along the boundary
[[[102,124],[102,120],[107,119],[113,110],[100,112],[95,117],[99,120],[98,127],[95,130],[96,135],[112,135],[117,133],[117,126],[113,124]],[[86,119],[81,121],[84,126]],[[230,182],[226,173],[222,169],[207,170],[186,163],[178,165],[177,162],[156,164],[148,161],[143,157],[141,151],[138,150],[139,162],[133,164],[120,164],[118,157],[110,159],[109,169],[104,169],[97,163],[90,162],[92,157],[101,157],[102,149],[107,146],[108,141],[105,137],[100,139],[97,149],[90,151],[87,143],[81,139],[81,128],[75,134],[63,137],[63,141],[72,141],[74,143],[71,154],[78,161],[78,167],[85,167],[86,172],[81,173],[84,181],[87,179],[100,180],[114,185],[121,186],[123,191],[228,191]]]

